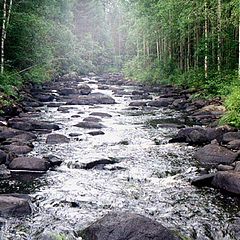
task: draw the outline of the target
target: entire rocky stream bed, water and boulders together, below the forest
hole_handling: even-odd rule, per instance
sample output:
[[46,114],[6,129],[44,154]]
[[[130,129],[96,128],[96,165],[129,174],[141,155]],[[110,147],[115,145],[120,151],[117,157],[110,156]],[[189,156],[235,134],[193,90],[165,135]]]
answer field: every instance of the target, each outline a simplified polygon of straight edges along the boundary
[[240,133],[193,93],[121,74],[26,89],[0,122],[1,239],[240,239]]

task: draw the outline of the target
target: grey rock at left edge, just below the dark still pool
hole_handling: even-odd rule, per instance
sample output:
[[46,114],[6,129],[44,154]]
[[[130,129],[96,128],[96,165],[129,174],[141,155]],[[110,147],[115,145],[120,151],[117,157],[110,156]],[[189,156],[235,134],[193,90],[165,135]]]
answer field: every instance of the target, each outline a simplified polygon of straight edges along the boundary
[[21,217],[31,214],[30,198],[26,195],[1,194],[0,216]]

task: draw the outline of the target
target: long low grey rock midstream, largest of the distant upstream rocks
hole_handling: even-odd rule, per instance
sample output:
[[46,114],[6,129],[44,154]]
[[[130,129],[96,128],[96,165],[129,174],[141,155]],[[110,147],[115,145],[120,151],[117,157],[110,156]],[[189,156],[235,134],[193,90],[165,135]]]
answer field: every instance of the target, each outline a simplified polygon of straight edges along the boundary
[[92,93],[79,96],[67,101],[67,105],[95,105],[95,104],[115,104],[115,100],[102,93]]

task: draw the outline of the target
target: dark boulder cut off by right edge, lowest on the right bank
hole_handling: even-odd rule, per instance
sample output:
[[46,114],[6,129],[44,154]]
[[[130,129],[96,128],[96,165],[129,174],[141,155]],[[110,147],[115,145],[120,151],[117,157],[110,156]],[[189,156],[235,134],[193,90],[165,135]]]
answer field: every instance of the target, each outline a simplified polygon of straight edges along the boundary
[[240,195],[240,172],[218,172],[212,184],[221,190]]

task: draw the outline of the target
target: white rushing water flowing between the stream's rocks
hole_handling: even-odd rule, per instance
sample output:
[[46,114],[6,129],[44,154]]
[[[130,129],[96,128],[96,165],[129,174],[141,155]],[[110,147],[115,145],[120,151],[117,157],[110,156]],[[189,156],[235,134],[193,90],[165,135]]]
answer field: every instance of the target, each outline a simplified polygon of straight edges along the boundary
[[[96,85],[91,87],[99,92]],[[125,87],[134,89],[137,87]],[[101,92],[112,95],[109,90]],[[41,109],[41,120],[61,126],[57,132],[81,135],[59,145],[46,145],[47,135],[41,135],[30,155],[53,154],[63,164],[42,176],[16,174],[11,181],[0,183],[2,192],[29,193],[34,207],[27,218],[1,219],[1,239],[38,239],[42,232],[77,239],[77,230],[110,211],[150,216],[190,239],[240,239],[229,231],[239,202],[217,190],[191,186],[190,179],[198,174],[194,148],[169,144],[177,129],[157,124],[181,123],[183,116],[167,109],[131,110],[128,96],[115,99],[115,105],[72,106],[70,113]],[[113,116],[103,119],[105,135],[93,137],[87,134],[89,130],[73,126],[92,112]],[[76,114],[80,117],[71,117]],[[117,163],[105,170],[81,169],[83,163],[99,159]]]

